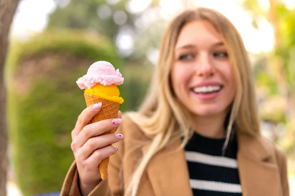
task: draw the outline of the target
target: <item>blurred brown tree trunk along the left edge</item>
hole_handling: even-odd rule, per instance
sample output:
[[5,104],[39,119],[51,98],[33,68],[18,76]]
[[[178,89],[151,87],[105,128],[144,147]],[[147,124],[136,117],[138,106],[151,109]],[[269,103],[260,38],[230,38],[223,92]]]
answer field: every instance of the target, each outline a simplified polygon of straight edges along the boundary
[[18,3],[19,0],[0,0],[0,196],[6,196],[6,173],[8,167],[4,65],[10,24]]

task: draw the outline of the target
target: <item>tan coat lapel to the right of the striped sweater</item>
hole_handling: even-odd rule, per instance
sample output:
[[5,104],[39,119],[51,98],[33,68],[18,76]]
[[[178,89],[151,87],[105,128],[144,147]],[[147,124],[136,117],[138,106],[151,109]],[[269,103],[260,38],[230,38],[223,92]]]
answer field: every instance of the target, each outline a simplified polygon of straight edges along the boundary
[[261,136],[255,138],[237,134],[238,171],[243,196],[282,196],[280,176],[269,142]]

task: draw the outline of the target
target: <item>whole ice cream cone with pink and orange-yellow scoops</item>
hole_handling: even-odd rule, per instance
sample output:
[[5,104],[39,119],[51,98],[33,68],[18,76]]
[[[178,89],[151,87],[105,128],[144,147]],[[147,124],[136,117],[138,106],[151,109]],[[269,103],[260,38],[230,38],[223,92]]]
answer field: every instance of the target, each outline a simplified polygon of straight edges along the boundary
[[[123,81],[124,78],[119,70],[115,70],[114,66],[107,61],[93,63],[87,74],[78,78],[77,85],[80,89],[85,89],[84,97],[87,107],[95,103],[102,103],[100,111],[91,119],[90,123],[118,118],[120,104],[124,101],[120,97],[118,85],[121,85]],[[102,135],[114,132],[115,128]],[[103,180],[107,176],[108,164],[109,158],[106,158],[98,166]]]

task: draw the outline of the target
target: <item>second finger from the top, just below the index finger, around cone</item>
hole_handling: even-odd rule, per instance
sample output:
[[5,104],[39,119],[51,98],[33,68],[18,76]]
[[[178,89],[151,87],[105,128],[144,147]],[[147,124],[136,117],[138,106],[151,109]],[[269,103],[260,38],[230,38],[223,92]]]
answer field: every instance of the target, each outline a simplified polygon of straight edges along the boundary
[[121,119],[106,119],[96,123],[88,124],[73,140],[73,145],[76,147],[82,147],[90,138],[118,127],[121,121]]

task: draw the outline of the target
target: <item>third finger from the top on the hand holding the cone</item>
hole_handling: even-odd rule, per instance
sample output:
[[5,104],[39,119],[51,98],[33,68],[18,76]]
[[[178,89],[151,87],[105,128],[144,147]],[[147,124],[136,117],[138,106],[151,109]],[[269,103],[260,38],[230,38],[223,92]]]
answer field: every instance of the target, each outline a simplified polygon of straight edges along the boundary
[[79,149],[80,160],[86,160],[96,149],[112,145],[123,138],[122,134],[106,134],[90,138],[83,147]]

